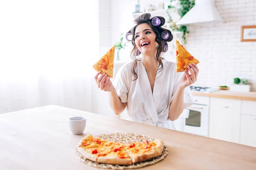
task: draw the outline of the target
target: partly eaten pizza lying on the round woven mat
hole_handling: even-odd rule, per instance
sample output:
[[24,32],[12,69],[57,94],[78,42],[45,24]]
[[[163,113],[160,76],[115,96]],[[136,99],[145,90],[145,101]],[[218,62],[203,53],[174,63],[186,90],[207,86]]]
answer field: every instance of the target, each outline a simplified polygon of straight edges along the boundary
[[160,139],[155,139],[153,142],[144,140],[143,142],[123,144],[102,140],[89,134],[81,139],[77,151],[91,161],[130,165],[160,156],[163,146]]

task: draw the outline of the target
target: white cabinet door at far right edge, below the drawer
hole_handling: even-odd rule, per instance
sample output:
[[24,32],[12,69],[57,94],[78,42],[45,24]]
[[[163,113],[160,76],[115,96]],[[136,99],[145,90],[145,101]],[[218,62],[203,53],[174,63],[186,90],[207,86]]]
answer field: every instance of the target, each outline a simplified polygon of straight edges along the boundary
[[256,116],[241,116],[240,144],[256,147]]

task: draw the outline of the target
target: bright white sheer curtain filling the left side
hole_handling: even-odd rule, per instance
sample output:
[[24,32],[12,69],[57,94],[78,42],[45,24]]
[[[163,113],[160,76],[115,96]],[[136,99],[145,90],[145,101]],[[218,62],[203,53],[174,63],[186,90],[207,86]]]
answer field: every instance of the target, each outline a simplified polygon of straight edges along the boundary
[[98,0],[0,1],[0,113],[91,111],[98,12]]

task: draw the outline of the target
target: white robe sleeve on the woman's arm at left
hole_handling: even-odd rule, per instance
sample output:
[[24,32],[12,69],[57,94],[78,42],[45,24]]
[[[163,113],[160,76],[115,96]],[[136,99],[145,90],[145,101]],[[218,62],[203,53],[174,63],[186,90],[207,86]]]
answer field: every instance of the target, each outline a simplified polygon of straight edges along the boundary
[[125,76],[125,69],[125,67],[121,67],[116,73],[116,77],[113,81],[113,86],[116,89],[116,93],[123,103],[127,102],[128,99],[128,82],[127,76]]

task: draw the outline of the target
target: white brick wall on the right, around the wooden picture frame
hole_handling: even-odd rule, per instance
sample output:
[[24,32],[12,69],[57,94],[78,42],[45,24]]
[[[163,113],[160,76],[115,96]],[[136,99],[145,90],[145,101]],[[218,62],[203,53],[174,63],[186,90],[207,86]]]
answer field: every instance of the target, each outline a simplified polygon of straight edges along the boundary
[[[195,84],[230,85],[239,77],[249,79],[256,91],[256,42],[240,42],[241,26],[256,25],[256,0],[216,0],[215,5],[225,23],[189,27],[185,47],[201,61]],[[193,36],[198,32],[202,35]],[[200,44],[207,46],[205,55],[199,51]]]

